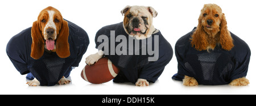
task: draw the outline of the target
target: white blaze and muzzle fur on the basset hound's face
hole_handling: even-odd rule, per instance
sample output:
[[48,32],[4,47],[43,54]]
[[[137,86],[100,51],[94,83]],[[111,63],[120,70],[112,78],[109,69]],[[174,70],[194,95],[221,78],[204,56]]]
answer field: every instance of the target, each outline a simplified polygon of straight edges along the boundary
[[48,12],[48,14],[49,14],[49,18],[48,18],[46,27],[44,27],[44,39],[48,39],[48,38],[46,38],[46,37],[47,37],[46,29],[47,29],[47,28],[53,28],[54,31],[55,31],[54,34],[53,34],[53,36],[54,36],[55,38],[54,38],[53,40],[55,40],[55,39],[56,39],[56,35],[57,35],[57,33],[56,33],[56,25],[55,25],[55,23],[53,22],[53,21],[54,21],[53,16],[54,16],[54,14],[55,14],[55,11],[53,11],[53,10],[48,10],[47,12]]

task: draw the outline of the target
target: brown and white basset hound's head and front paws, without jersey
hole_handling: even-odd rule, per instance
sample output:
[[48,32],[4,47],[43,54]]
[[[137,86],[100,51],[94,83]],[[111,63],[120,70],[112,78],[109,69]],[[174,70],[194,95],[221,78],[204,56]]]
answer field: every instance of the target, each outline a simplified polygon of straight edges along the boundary
[[[70,56],[69,53],[69,28],[68,22],[63,20],[60,11],[49,6],[42,10],[31,28],[31,57],[38,60],[43,56],[44,50],[56,52],[60,58]],[[67,78],[60,79],[58,84],[68,84]],[[27,82],[29,86],[39,86],[40,82],[35,78]]]

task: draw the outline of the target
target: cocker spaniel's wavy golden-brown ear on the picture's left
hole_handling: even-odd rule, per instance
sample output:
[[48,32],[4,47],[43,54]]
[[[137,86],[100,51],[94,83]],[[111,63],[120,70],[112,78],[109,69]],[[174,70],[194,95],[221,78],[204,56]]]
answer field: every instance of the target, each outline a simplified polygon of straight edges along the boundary
[[191,36],[191,45],[192,47],[195,46],[196,50],[206,50],[208,46],[208,41],[206,39],[206,34],[204,32],[203,26],[201,24],[201,16],[199,17],[199,24],[197,25],[196,31],[193,32]]

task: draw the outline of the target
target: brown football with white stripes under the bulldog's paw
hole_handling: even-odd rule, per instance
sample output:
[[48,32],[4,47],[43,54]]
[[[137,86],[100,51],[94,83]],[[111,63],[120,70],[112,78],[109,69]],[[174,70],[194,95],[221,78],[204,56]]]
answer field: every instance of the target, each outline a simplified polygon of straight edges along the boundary
[[119,71],[107,57],[104,57],[93,65],[86,65],[82,69],[81,77],[90,83],[100,84],[115,78]]

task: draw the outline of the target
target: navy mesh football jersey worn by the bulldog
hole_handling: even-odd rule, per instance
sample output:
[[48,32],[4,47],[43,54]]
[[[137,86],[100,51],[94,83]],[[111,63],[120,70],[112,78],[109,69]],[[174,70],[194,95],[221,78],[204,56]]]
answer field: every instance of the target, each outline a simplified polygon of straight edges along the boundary
[[[105,41],[97,41],[98,37],[100,35],[106,35],[109,38],[110,41],[110,31],[115,31],[114,35],[115,38],[117,38],[118,35],[124,35],[126,37],[126,43],[122,44],[121,42],[115,42],[115,47],[117,46],[122,46],[122,49],[127,49],[126,54],[114,54],[111,55],[110,48],[113,46],[110,46],[109,42]],[[114,36],[113,35],[113,36]],[[146,49],[148,45],[152,45],[152,50],[154,49],[154,37],[158,35],[159,37],[159,57],[157,61],[148,61],[148,57],[154,57],[154,54],[150,55],[148,52],[146,55],[142,54],[142,49]],[[137,82],[138,78],[143,78],[147,79],[149,82],[155,82],[160,75],[162,74],[164,67],[171,61],[172,58],[172,47],[168,43],[166,39],[162,36],[162,34],[159,32],[156,32],[152,34],[152,42],[147,41],[147,39],[143,39],[147,41],[147,45],[143,46],[142,43],[143,40],[139,40],[139,45],[140,46],[135,46],[135,41],[138,41],[137,39],[134,39],[134,37],[130,37],[127,35],[125,30],[123,29],[123,22],[117,23],[117,24],[112,24],[109,26],[102,27],[97,33],[95,37],[95,43],[96,43],[96,48],[100,44],[103,45],[109,45],[110,48],[104,48],[104,49],[109,49],[108,55],[106,55],[106,52],[104,51],[104,54],[106,57],[109,58],[109,60],[112,61],[112,63],[117,66],[121,71],[117,75],[117,77],[114,78],[114,82],[131,82],[135,83]],[[129,50],[129,38],[133,38],[133,53],[129,54],[131,50]],[[99,49],[99,48],[98,48]],[[139,53],[139,54],[136,54]]]

